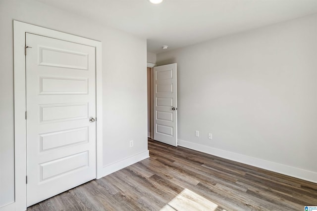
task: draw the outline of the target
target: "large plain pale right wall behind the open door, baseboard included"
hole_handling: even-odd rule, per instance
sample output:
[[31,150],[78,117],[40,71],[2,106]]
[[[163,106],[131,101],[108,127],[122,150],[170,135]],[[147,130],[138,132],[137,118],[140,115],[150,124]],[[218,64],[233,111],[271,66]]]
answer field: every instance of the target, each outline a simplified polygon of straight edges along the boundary
[[317,15],[157,55],[168,63],[180,145],[317,182]]

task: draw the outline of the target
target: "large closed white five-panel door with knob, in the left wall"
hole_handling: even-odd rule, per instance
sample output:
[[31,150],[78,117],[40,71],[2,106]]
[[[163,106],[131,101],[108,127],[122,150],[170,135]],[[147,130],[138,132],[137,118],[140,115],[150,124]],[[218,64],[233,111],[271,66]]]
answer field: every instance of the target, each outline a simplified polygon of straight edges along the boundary
[[27,206],[96,178],[95,48],[26,33]]

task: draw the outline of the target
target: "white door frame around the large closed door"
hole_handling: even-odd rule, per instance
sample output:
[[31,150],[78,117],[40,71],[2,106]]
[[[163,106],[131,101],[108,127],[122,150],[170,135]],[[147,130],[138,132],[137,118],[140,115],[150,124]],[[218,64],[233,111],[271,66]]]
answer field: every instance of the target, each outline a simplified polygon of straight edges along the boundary
[[25,33],[42,35],[68,42],[85,44],[96,49],[96,163],[97,179],[103,170],[102,127],[102,43],[51,29],[13,21],[14,30],[14,158],[15,158],[15,210],[26,210],[26,95],[25,95]]

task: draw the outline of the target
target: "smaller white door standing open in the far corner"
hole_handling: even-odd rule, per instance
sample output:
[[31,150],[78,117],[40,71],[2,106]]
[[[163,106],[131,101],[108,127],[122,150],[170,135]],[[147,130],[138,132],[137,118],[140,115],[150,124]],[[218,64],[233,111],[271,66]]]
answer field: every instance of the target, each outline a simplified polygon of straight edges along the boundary
[[154,67],[154,140],[177,146],[177,65]]

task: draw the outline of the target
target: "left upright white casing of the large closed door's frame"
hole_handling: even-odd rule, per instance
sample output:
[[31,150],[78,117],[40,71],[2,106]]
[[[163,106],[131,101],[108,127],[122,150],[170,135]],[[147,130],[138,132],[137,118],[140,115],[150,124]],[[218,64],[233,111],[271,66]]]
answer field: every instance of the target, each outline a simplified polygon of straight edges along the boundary
[[13,21],[15,209],[26,210],[25,27]]

